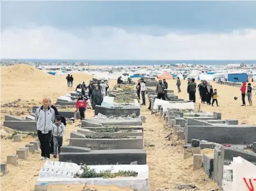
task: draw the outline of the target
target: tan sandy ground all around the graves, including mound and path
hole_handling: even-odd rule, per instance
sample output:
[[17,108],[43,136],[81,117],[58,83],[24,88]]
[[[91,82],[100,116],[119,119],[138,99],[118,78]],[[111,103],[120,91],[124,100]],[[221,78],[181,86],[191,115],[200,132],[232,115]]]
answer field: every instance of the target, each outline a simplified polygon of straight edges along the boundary
[[[2,67],[1,69],[1,124],[4,114],[26,116],[30,113],[32,105],[40,105],[43,96],[50,96],[55,101],[60,95],[74,89],[67,87],[65,76],[50,76],[26,65]],[[88,80],[92,78],[90,75],[81,73],[75,73],[73,76],[74,86],[80,81],[88,83]],[[111,80],[110,86],[115,83],[116,80]],[[169,89],[173,89],[176,95],[187,99],[186,81],[182,82],[181,93],[178,93],[175,86],[176,80],[169,80],[168,83]],[[224,119],[239,119],[239,123],[256,124],[255,106],[240,106],[239,88],[215,83],[212,85],[218,90],[220,106],[217,108],[201,105],[202,111],[220,111]],[[255,93],[253,95],[254,100]],[[234,96],[237,96],[239,100],[235,101]],[[18,99],[21,101],[16,103]],[[198,95],[197,101],[199,101]],[[199,107],[199,103],[196,107]],[[216,189],[217,185],[207,179],[202,169],[192,171],[192,157],[182,159],[183,142],[176,141],[174,137],[171,137],[170,141],[166,139],[165,137],[171,133],[171,130],[163,126],[163,118],[151,116],[147,108],[148,106],[141,107],[141,114],[146,117],[144,141],[149,165],[150,190],[174,190],[174,187],[179,184],[194,184],[199,190]],[[86,116],[88,118],[93,116],[91,109],[88,109]],[[78,122],[67,125],[64,144],[69,142],[69,134],[77,129],[77,124]],[[2,129],[4,131],[1,130],[1,137],[11,133],[8,128],[2,127]],[[13,142],[12,139],[4,137],[1,138],[1,161],[6,161],[7,155],[16,154],[16,149],[24,147],[26,143],[34,139],[27,136],[21,142]],[[8,164],[9,174],[1,177],[1,190],[34,190],[34,184],[43,164],[44,161],[40,161],[39,151],[30,154],[27,161],[19,160],[17,167]],[[102,190],[100,187],[94,189]],[[112,190],[118,190],[118,188],[113,187]]]

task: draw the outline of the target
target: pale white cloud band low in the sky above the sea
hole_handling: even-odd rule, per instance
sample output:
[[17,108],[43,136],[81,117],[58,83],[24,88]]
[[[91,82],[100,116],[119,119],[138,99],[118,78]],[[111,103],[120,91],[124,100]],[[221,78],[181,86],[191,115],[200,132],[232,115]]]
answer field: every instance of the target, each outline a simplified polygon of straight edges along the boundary
[[148,31],[152,30],[9,28],[1,32],[1,58],[254,60],[256,57],[256,29],[222,34],[164,30],[151,35]]

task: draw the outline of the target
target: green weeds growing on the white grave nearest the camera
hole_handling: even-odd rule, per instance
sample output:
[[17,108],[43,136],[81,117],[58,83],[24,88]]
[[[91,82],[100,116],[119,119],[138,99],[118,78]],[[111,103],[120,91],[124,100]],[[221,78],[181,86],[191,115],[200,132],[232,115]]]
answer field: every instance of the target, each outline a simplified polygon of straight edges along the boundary
[[119,170],[118,172],[111,172],[111,170],[101,170],[100,172],[96,172],[95,169],[90,169],[87,165],[82,165],[81,169],[82,173],[76,173],[75,178],[103,178],[103,179],[111,179],[115,177],[136,177],[138,172],[133,170]]

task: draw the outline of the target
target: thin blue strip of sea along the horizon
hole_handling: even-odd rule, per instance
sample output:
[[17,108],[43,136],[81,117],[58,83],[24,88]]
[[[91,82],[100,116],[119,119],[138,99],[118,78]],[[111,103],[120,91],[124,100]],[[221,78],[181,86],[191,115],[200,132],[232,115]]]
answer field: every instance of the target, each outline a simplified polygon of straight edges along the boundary
[[90,60],[90,59],[11,59],[1,58],[1,62],[15,61],[19,62],[35,62],[35,63],[60,63],[67,62],[72,65],[75,62],[87,62],[88,65],[173,65],[175,63],[186,63],[194,65],[227,65],[229,63],[256,64],[256,60]]

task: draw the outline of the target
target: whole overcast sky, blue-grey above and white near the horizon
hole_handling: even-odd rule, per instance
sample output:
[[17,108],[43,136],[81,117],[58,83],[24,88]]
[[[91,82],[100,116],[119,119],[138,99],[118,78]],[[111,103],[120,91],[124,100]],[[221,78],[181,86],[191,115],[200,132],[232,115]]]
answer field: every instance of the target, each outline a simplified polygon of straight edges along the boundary
[[2,1],[1,58],[255,59],[256,1]]

